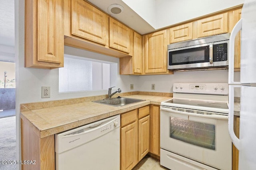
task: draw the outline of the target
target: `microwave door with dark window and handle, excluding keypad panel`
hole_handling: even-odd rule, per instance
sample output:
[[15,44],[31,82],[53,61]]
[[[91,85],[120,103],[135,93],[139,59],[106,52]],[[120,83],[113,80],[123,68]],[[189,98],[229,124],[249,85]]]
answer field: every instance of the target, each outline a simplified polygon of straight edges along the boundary
[[168,50],[168,69],[209,66],[214,66],[213,43]]

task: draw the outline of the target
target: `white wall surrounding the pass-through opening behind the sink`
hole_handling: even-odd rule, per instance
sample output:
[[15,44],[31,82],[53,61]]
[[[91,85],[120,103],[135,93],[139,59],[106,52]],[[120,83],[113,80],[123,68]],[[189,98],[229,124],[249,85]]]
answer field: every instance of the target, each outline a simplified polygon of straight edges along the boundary
[[[76,55],[80,57],[87,57],[93,59],[100,59],[103,61],[110,61],[113,63],[118,63],[119,59],[114,57],[109,57],[106,55],[101,55],[97,53],[92,53],[90,51],[84,51],[80,49],[75,49],[72,47],[65,46],[64,53],[69,55]],[[97,90],[97,91],[80,91],[80,92],[72,92],[72,93],[59,93],[59,86],[58,86],[58,68],[47,70],[47,69],[37,69],[37,68],[24,68],[24,60],[22,58],[24,54],[20,54],[20,66],[19,66],[19,96],[20,96],[20,103],[29,103],[29,102],[41,102],[41,101],[48,101],[48,100],[61,100],[61,99],[68,99],[68,98],[79,98],[85,96],[96,96],[96,95],[103,95],[108,94],[107,90]],[[119,72],[119,67],[116,68],[117,72]],[[116,81],[116,89],[120,88],[122,92],[128,92],[130,84],[128,82],[132,82],[135,84],[134,90],[136,89],[136,83],[138,80],[137,76],[120,76],[117,75]],[[125,80],[123,80],[125,79]],[[50,86],[51,88],[51,97],[42,99],[41,98],[41,86]],[[113,88],[115,90],[115,88]]]

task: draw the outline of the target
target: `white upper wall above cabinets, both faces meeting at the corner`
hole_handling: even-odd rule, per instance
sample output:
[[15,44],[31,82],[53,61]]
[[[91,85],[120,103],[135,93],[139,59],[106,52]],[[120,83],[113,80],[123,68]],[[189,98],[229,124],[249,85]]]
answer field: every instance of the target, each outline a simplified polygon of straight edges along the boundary
[[232,8],[244,0],[122,0],[154,29]]

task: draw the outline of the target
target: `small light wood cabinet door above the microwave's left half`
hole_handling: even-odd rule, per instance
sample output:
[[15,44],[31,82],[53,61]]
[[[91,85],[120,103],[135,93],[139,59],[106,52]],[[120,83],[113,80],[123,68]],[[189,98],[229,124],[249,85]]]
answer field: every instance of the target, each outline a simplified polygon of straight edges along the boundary
[[170,43],[193,39],[193,23],[186,23],[170,28]]

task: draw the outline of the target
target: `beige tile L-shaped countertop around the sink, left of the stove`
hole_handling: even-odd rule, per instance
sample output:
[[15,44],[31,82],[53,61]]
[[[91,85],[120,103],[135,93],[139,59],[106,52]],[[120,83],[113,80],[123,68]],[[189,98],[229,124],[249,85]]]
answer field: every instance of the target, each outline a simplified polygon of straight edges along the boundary
[[[141,94],[124,97],[143,99],[145,101],[122,107],[108,106],[94,102],[81,102],[42,109],[33,109],[33,107],[31,107],[32,109],[28,109],[26,107],[28,104],[21,104],[20,118],[26,123],[31,123],[36,134],[40,138],[43,138],[149,104],[160,105],[162,101],[172,98]],[[23,109],[24,107],[26,109]]]

